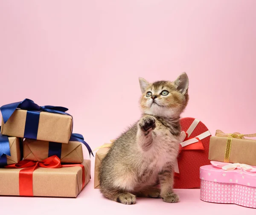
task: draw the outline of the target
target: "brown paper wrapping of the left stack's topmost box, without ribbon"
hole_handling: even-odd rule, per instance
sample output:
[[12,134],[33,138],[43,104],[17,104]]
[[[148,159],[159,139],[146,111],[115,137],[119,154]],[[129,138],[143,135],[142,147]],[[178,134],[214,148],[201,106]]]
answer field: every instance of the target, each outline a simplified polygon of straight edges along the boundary
[[[16,109],[4,124],[2,119],[1,134],[24,137],[27,110]],[[38,124],[38,140],[67,144],[72,132],[72,117],[57,113],[41,112]]]

